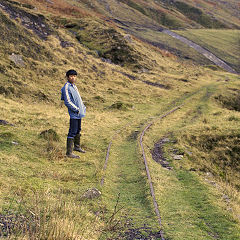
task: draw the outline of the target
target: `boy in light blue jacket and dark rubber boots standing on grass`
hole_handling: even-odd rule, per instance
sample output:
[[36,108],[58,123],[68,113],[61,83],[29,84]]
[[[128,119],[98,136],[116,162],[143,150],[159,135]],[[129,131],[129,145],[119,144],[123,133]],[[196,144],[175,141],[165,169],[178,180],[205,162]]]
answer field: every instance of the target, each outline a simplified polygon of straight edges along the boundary
[[73,69],[66,72],[67,82],[61,89],[61,100],[68,108],[70,116],[70,126],[67,136],[67,157],[79,158],[79,156],[73,154],[73,151],[85,153],[80,147],[81,137],[81,123],[82,118],[85,117],[86,107],[83,104],[82,98],[75,85],[77,79],[77,72]]

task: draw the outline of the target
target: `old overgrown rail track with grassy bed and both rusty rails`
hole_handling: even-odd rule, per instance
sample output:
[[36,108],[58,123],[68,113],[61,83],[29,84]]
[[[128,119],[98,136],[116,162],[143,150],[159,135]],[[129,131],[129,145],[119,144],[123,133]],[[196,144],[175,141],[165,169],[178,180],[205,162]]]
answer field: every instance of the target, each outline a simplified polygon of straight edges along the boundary
[[[201,89],[185,97],[189,98],[199,91],[201,91]],[[177,99],[176,101],[182,102],[185,97]],[[172,106],[172,104],[170,105]],[[171,108],[170,105],[163,110],[165,114],[160,115],[159,113],[154,119],[165,118],[180,108],[180,106],[178,106],[169,110]],[[142,122],[142,124],[145,125],[146,120],[144,122],[145,123]],[[101,179],[102,187],[105,189],[111,189],[110,195],[109,192],[105,193],[106,197],[112,198],[114,201],[114,196],[117,196],[118,194],[122,204],[125,205],[124,208],[127,208],[126,218],[130,221],[130,224],[127,225],[127,231],[120,231],[118,236],[115,236],[113,239],[164,240],[161,216],[155,199],[150,172],[147,170],[147,160],[143,147],[144,133],[154,123],[154,120],[148,123],[147,127],[141,131],[141,137],[139,139],[139,143],[142,147],[142,153],[140,153],[141,157],[139,156],[139,152],[136,151],[136,146],[138,145],[137,135],[140,134],[140,131],[137,132],[138,134],[136,136],[135,134],[134,136],[127,136],[126,131],[128,132],[130,129],[136,127],[140,129],[143,125],[134,126],[135,124],[131,123],[132,121],[114,133],[112,140],[108,145],[103,167],[104,173]],[[116,138],[118,138],[117,142],[115,141]],[[115,156],[115,160],[111,159],[112,154]],[[142,160],[138,160],[139,157],[140,159],[142,159],[142,157],[144,158],[144,164],[142,163]],[[143,169],[144,165],[145,170]],[[109,172],[108,169],[111,169],[111,171]],[[150,193],[152,199],[149,199],[148,197]]]

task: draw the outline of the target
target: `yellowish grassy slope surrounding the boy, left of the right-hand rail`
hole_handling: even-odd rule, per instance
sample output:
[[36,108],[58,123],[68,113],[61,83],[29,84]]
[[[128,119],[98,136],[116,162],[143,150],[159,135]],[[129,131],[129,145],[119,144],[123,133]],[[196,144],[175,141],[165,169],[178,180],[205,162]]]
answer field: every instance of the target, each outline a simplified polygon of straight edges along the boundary
[[[147,66],[150,71],[134,73],[127,66],[122,68],[102,62],[65,29],[59,28],[57,34],[73,43],[72,47],[62,48],[56,33],[47,41],[40,40],[30,31],[26,34],[17,22],[13,31],[7,27],[12,21],[6,15],[2,16],[9,22],[1,22],[1,29],[3,33],[8,29],[10,38],[3,38],[1,44],[4,91],[0,96],[0,114],[2,119],[15,126],[0,126],[1,214],[5,218],[25,216],[24,225],[36,239],[38,234],[42,239],[106,238],[106,235],[116,236],[122,225],[115,219],[109,221],[120,192],[120,203],[124,208],[116,217],[127,214],[135,226],[147,222],[156,231],[141,156],[136,142],[130,140],[129,144],[127,136],[136,129],[139,131],[139,126],[150,117],[173,106],[171,102],[176,98],[217,81],[225,73],[210,71],[212,75],[209,75],[209,71],[180,64],[175,58],[166,57],[135,40],[131,46],[144,59],[143,63],[139,60],[140,65]],[[28,48],[31,48],[32,55],[26,51]],[[10,61],[8,55],[12,52],[23,56],[25,67],[17,67]],[[82,137],[83,147],[88,152],[81,155],[80,161],[64,158],[68,115],[60,104],[60,88],[69,68],[76,68],[79,72],[77,86],[88,108]],[[135,76],[136,80],[123,73]],[[143,80],[168,85],[170,90],[146,85]],[[133,108],[128,105],[126,110],[109,108],[119,101],[131,103]],[[114,143],[106,186],[101,188],[99,182],[103,176],[107,144],[114,132],[129,122],[123,137]],[[49,128],[59,135],[58,142],[39,137],[41,131]],[[125,165],[126,152],[130,158],[127,162],[134,172]],[[90,187],[100,188],[103,196],[94,201],[81,200],[84,191]],[[126,188],[133,189],[131,194],[126,195]],[[188,201],[188,197],[186,199]],[[218,201],[213,199],[213,202],[216,204]],[[15,230],[20,233],[24,229],[21,221],[16,219],[15,224]],[[227,220],[230,224],[231,221]],[[173,234],[180,234],[179,230]]]

